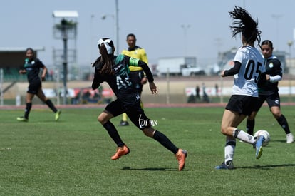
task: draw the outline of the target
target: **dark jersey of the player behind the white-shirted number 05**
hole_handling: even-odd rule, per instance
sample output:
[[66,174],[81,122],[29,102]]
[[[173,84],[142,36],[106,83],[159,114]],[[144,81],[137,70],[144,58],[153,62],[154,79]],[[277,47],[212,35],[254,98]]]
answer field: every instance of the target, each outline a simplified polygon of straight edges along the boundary
[[[271,56],[265,60],[265,69],[266,74],[269,76],[283,76],[283,71],[281,68],[281,62],[279,61],[276,56]],[[275,91],[279,91],[278,88],[279,82],[271,82],[266,80],[259,80],[258,81],[258,91],[260,93],[272,93]]]

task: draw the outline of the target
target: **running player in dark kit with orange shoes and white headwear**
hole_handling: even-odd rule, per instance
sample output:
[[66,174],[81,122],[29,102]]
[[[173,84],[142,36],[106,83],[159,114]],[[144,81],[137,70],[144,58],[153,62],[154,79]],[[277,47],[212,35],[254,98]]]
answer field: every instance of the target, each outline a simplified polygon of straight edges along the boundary
[[92,88],[98,88],[100,83],[105,81],[117,97],[116,100],[106,106],[103,113],[98,115],[98,121],[108,131],[110,138],[117,145],[117,152],[111,159],[117,160],[121,156],[130,153],[130,149],[121,140],[118,130],[110,122],[111,118],[125,112],[133,124],[142,130],[146,136],[157,140],[161,145],[174,153],[178,160],[178,170],[183,170],[187,151],[177,148],[166,135],[152,128],[152,120],[145,115],[143,109],[140,107],[140,95],[135,88],[136,83],[130,80],[129,66],[140,66],[148,77],[150,91],[157,93],[157,86],[155,86],[154,78],[148,64],[138,58],[132,58],[122,54],[114,56],[115,47],[110,38],[100,39],[98,41],[98,48],[101,56],[93,63],[95,74]]

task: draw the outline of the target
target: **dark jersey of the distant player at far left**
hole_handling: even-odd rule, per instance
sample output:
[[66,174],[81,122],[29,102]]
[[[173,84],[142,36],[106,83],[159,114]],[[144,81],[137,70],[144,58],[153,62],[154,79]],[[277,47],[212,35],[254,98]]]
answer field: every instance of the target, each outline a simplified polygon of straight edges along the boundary
[[40,69],[43,67],[44,65],[42,61],[40,61],[38,58],[33,58],[31,60],[29,60],[29,58],[25,59],[24,69],[26,70],[26,76],[29,83],[41,81],[39,73]]

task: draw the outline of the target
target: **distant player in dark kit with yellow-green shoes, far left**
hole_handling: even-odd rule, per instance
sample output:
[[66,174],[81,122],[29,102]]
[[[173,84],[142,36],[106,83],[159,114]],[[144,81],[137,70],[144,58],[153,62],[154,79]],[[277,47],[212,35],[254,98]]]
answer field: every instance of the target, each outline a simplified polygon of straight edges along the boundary
[[[43,69],[41,78],[39,76],[40,69]],[[19,73],[21,74],[26,74],[29,81],[28,91],[26,92],[26,110],[24,112],[24,116],[16,118],[17,120],[28,122],[29,113],[32,108],[32,100],[35,95],[38,96],[38,98],[40,98],[44,103],[46,103],[46,105],[51,108],[53,113],[56,113],[56,120],[59,119],[61,115],[61,110],[57,110],[51,100],[46,98],[42,91],[41,80],[45,80],[46,72],[46,66],[44,66],[43,63],[34,56],[33,49],[27,48],[24,68],[21,68],[21,70],[19,71]]]

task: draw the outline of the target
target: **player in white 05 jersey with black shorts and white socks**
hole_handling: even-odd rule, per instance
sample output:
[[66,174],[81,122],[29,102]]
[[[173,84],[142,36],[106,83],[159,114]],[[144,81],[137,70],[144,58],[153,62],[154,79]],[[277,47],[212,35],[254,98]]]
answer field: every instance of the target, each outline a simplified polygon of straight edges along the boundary
[[[262,155],[263,136],[254,138],[237,129],[237,126],[252,112],[252,105],[257,101],[257,81],[260,73],[265,72],[262,55],[254,42],[260,43],[260,33],[257,29],[257,22],[252,19],[245,9],[235,6],[234,11],[229,11],[232,19],[237,19],[232,23],[232,36],[242,33],[243,46],[238,49],[234,56],[234,66],[222,71],[221,76],[234,76],[234,86],[232,96],[229,98],[222,117],[221,132],[226,136],[224,147],[224,162],[215,167],[216,169],[234,169],[233,158],[236,138],[249,143],[256,148],[255,156],[259,159]],[[237,26],[235,26],[237,25]]]

